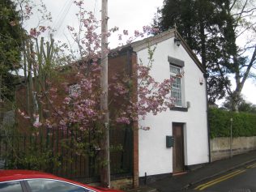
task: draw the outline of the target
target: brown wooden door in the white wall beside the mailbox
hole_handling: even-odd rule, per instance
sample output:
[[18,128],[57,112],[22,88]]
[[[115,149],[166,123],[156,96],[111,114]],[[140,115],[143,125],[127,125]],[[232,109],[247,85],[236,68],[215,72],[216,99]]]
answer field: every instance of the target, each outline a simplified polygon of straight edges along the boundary
[[184,135],[183,124],[173,123],[173,173],[184,171]]

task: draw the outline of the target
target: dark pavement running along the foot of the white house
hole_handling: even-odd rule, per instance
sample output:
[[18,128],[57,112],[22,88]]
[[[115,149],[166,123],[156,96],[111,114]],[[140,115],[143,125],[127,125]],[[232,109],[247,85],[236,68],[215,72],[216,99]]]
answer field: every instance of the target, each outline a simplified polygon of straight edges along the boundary
[[220,176],[233,169],[250,164],[256,161],[256,151],[250,151],[232,158],[217,160],[210,164],[188,173],[165,177],[159,181],[152,182],[147,185],[139,186],[139,188],[129,190],[128,192],[174,192],[186,190],[190,186],[195,186],[200,182],[207,181],[213,177]]

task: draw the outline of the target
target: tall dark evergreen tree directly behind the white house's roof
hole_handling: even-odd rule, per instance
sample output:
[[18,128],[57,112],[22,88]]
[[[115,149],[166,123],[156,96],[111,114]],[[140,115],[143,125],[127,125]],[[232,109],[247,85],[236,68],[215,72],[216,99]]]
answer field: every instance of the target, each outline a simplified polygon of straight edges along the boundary
[[[175,24],[190,48],[200,56],[203,66],[210,74],[209,102],[225,96],[224,86],[229,81],[219,74],[219,66],[228,61],[229,50],[224,41],[228,28],[225,23],[230,16],[220,7],[223,1],[166,0],[161,10],[160,30],[165,31]],[[221,32],[221,30],[223,32]]]

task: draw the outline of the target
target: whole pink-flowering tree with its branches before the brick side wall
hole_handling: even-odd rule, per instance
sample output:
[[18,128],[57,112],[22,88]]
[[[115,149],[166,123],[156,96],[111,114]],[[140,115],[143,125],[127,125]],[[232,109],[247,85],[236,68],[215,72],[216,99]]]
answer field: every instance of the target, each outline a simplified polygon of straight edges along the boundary
[[[34,104],[39,105],[39,109],[34,109],[32,113],[19,109],[21,116],[31,119],[35,130],[47,127],[50,129],[62,130],[65,134],[70,134],[72,140],[72,150],[76,154],[84,155],[87,153],[87,146],[90,145],[97,152],[100,150],[100,138],[103,130],[100,130],[100,119],[105,111],[100,110],[100,36],[97,32],[99,23],[92,12],[83,9],[83,1],[75,1],[79,7],[79,13],[76,15],[79,20],[79,28],[68,27],[70,36],[78,46],[78,53],[72,56],[75,61],[68,65],[54,66],[53,63],[61,62],[58,57],[51,57],[58,52],[60,47],[51,43],[38,44],[37,39],[41,32],[45,32],[47,27],[32,28],[30,31],[30,48],[35,42],[36,49],[30,49],[27,55],[31,59],[33,70],[37,79],[36,86],[32,85],[29,90],[34,93],[36,98]],[[26,8],[28,15],[31,13],[29,6]],[[109,30],[116,32],[117,28]],[[143,32],[135,31],[133,37],[129,37],[127,43],[131,43],[137,38],[147,36],[154,32],[150,27],[143,27]],[[118,35],[128,36],[129,32],[124,30]],[[64,53],[71,48],[64,48]],[[117,71],[109,80],[109,108],[110,110],[110,128],[117,126],[132,126],[133,122],[143,120],[148,113],[157,115],[169,109],[173,105],[173,99],[170,97],[171,79],[165,79],[159,83],[150,75],[153,65],[153,55],[156,47],[148,48],[148,63],[137,63],[135,72],[128,75],[124,69],[121,73]],[[28,50],[28,49],[27,49]],[[34,51],[35,50],[35,51]],[[58,52],[58,53],[57,53]],[[72,52],[72,51],[71,51]],[[49,57],[47,54],[49,53]],[[109,50],[113,56],[117,51]],[[70,58],[70,56],[66,57]],[[45,65],[42,65],[45,64]],[[50,71],[58,73],[56,76],[49,75]],[[38,78],[41,77],[41,78]],[[37,119],[37,120],[36,120]],[[150,127],[133,127],[134,129],[149,130]],[[92,132],[94,139],[91,143],[83,140],[83,136],[77,136],[75,132],[82,132],[84,135]],[[100,160],[101,164],[106,164]]]

